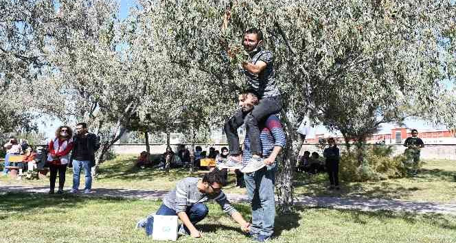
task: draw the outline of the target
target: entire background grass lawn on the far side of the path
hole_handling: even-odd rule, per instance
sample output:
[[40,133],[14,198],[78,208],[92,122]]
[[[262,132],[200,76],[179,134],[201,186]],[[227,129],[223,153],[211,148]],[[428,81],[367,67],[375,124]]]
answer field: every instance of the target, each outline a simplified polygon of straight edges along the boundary
[[[160,170],[133,167],[136,156],[122,155],[100,165],[100,175],[93,181],[93,187],[126,189],[172,189],[179,179],[189,176],[187,169],[172,169],[169,174]],[[67,170],[67,187],[72,185],[71,170]],[[198,176],[193,174],[192,176]],[[83,184],[84,176],[81,177]],[[0,183],[48,185],[48,180],[16,181],[7,177]],[[229,174],[227,193],[245,194],[245,189],[236,188],[236,176]],[[396,198],[435,203],[456,203],[456,161],[424,161],[424,167],[417,178],[398,178],[365,183],[341,183],[340,192],[328,192],[326,174],[308,176],[297,174],[295,193],[306,196],[365,196],[370,198]]]

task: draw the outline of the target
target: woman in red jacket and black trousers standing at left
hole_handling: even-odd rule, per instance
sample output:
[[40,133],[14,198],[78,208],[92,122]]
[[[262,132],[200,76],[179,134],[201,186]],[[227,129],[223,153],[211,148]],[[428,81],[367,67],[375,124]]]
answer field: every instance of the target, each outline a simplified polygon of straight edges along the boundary
[[49,177],[50,189],[49,194],[54,194],[56,187],[56,178],[58,172],[58,191],[57,194],[63,193],[63,185],[65,185],[65,172],[69,162],[69,152],[73,148],[73,131],[69,126],[60,126],[56,130],[56,137],[49,141],[49,154],[47,162],[51,175]]

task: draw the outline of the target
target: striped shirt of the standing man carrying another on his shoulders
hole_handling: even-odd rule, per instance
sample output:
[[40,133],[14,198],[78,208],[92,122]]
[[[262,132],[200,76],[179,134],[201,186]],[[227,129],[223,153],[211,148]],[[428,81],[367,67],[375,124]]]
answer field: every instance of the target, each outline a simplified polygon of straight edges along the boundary
[[[267,158],[273,152],[275,146],[284,148],[286,144],[285,132],[282,129],[280,119],[276,115],[270,115],[264,122],[260,122],[260,140],[262,144],[262,157]],[[242,163],[247,165],[252,157],[250,151],[250,139],[249,135],[245,136],[244,140],[244,152],[242,153]]]

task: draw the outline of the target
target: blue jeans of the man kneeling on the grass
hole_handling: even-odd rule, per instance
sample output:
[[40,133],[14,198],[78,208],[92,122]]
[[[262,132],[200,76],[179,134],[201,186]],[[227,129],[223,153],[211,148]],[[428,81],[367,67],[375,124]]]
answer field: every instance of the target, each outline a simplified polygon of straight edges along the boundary
[[[186,211],[187,216],[188,216],[188,218],[190,218],[190,222],[192,222],[193,225],[195,225],[197,222],[200,222],[201,220],[203,220],[207,216],[208,212],[209,212],[209,209],[203,203],[196,203],[196,204],[192,205],[192,207],[188,207],[187,211]],[[170,209],[169,207],[166,207],[166,205],[162,204],[160,206],[159,210],[157,211],[157,213],[155,213],[155,215],[177,216],[177,213],[176,213],[176,211],[174,211],[174,209]],[[154,216],[153,215],[150,215],[147,217],[147,222],[146,222],[145,228],[146,228],[146,235],[152,235],[152,231],[154,230]],[[183,229],[185,229],[185,231],[190,234],[190,231],[187,229],[187,227],[185,227],[185,225],[183,226]]]

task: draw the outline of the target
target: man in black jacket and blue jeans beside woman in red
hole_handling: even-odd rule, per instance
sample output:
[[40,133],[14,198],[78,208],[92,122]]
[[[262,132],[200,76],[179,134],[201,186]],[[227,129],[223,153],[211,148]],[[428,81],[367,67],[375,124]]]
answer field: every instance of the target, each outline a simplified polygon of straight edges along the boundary
[[80,122],[76,125],[76,136],[73,137],[73,150],[70,164],[73,165],[73,188],[71,193],[78,192],[79,178],[82,167],[85,172],[84,194],[89,194],[92,188],[91,167],[95,165],[95,152],[100,148],[98,137],[87,131],[87,124]]

